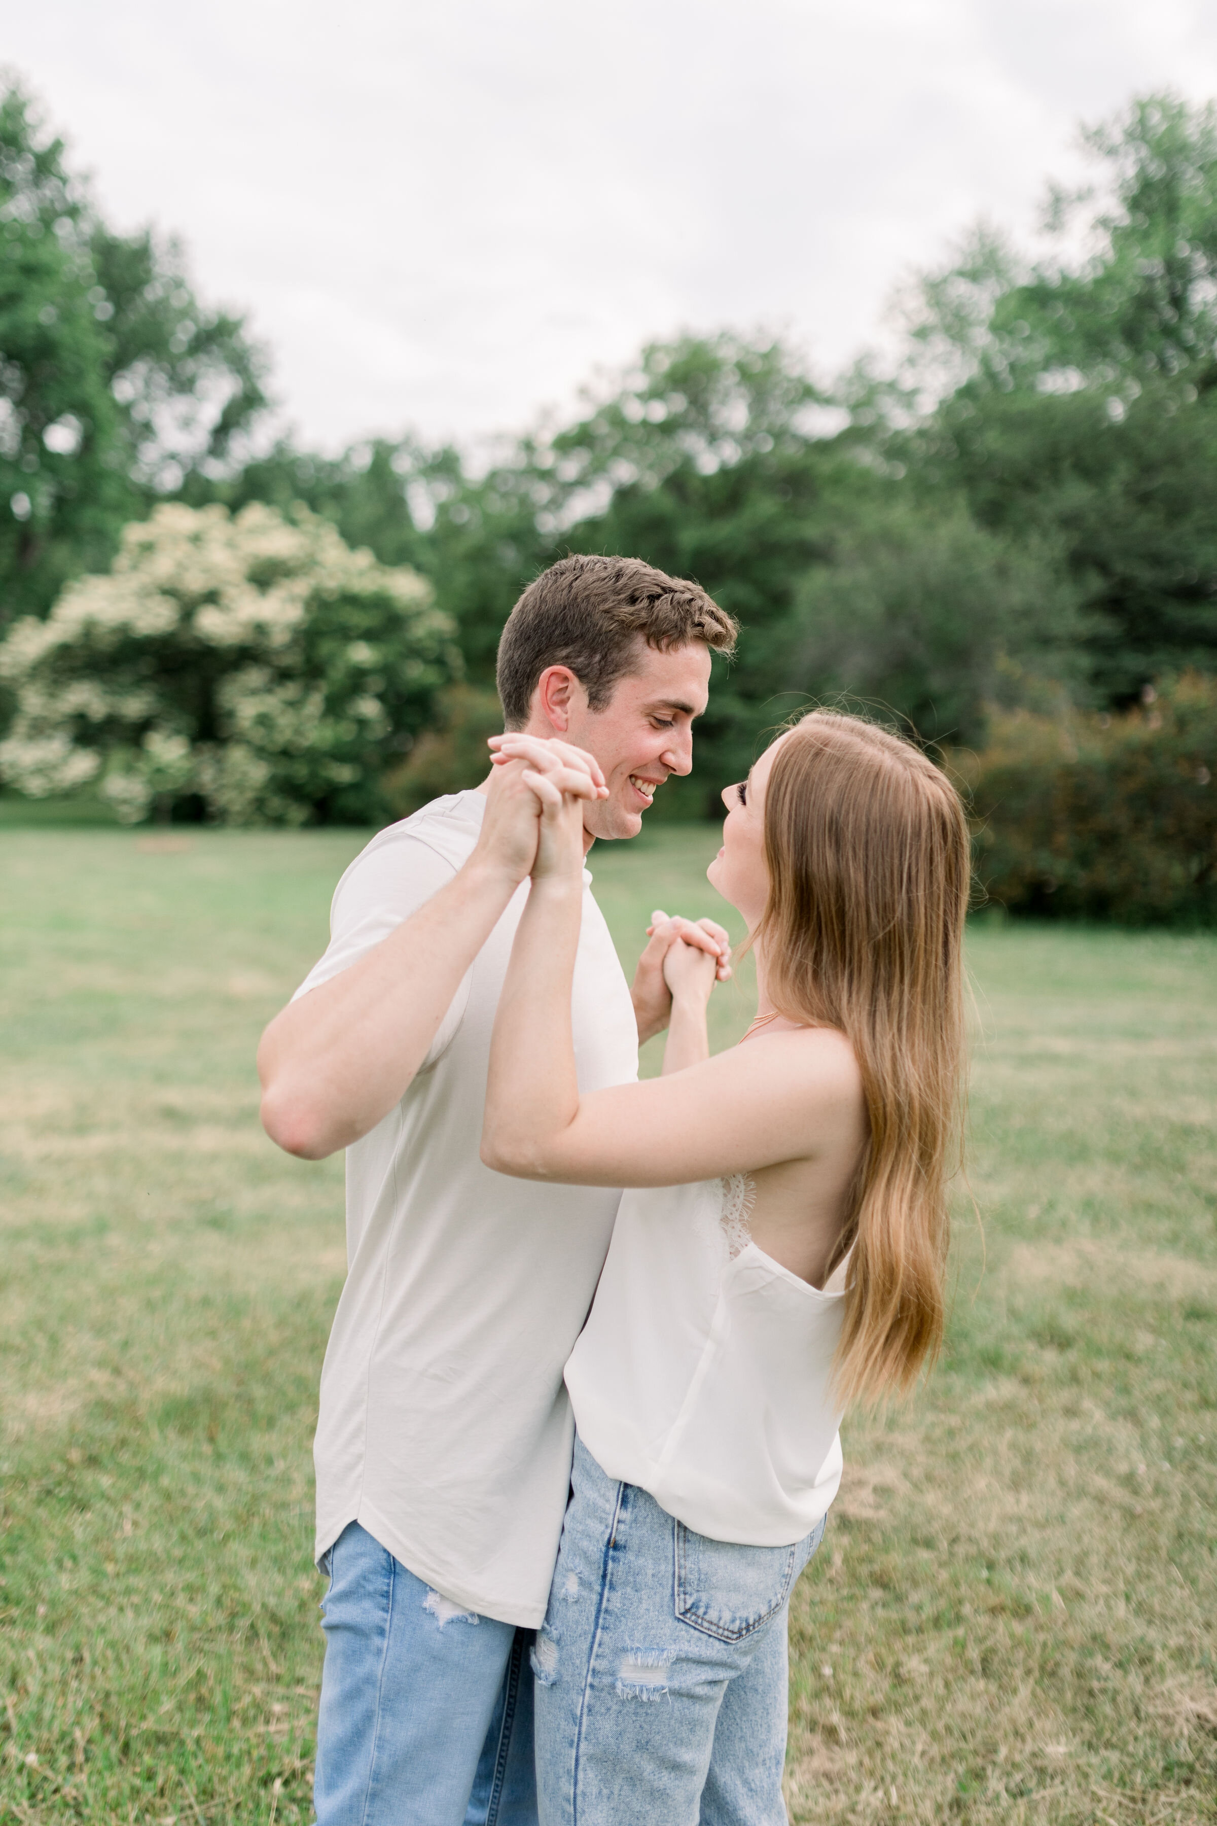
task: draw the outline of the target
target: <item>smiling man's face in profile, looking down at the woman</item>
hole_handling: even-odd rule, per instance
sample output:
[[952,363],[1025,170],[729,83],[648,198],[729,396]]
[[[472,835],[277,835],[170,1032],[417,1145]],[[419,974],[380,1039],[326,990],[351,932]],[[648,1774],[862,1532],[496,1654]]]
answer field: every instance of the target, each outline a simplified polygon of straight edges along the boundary
[[602,710],[588,708],[582,687],[571,690],[566,740],[595,754],[609,789],[584,811],[589,836],[637,836],[655,789],[693,767],[693,718],[710,696],[710,648],[693,641],[661,654],[639,637],[635,666]]

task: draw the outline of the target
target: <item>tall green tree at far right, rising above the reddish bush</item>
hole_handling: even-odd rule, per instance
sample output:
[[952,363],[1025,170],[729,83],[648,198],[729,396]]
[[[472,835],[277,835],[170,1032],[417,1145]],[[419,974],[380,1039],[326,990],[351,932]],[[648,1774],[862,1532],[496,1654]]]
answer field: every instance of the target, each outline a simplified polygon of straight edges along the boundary
[[850,436],[921,500],[1060,548],[1118,707],[1217,665],[1217,111],[1144,97],[1084,137],[1098,184],[1047,226],[1086,257],[974,234],[916,292],[894,383],[854,376]]

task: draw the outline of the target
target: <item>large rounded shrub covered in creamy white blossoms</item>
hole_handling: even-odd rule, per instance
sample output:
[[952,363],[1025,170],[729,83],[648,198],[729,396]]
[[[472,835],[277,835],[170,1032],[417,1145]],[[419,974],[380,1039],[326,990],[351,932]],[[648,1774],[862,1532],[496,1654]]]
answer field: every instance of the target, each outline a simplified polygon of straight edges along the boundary
[[0,776],[42,798],[89,780],[119,816],[374,822],[385,769],[460,672],[409,570],[327,522],[248,506],[157,508],[113,572],[0,646],[16,716]]

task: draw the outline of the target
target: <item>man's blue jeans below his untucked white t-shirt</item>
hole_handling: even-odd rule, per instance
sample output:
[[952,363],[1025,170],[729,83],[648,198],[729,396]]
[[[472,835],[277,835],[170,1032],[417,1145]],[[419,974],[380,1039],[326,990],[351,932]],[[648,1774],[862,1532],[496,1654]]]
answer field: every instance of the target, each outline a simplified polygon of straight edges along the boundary
[[533,1631],[460,1611],[356,1521],[327,1563],[317,1826],[536,1826]]

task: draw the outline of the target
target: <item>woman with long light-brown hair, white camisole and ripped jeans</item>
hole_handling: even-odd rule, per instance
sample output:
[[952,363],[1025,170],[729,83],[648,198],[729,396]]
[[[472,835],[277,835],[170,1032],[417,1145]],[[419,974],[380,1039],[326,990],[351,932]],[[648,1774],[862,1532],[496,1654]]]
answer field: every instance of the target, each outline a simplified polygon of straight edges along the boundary
[[724,792],[708,871],[755,948],[748,1034],[708,1055],[715,959],[675,946],[664,1076],[580,1097],[582,811],[524,778],[540,845],[482,1154],[637,1189],[566,1370],[573,1495],[533,1660],[542,1821],[779,1826],[786,1601],[841,1479],[841,1415],[910,1388],[941,1338],[967,825],[918,749],[805,716]]

